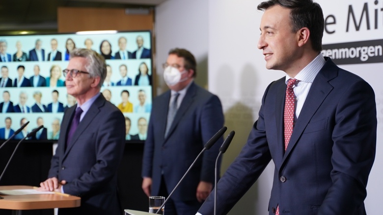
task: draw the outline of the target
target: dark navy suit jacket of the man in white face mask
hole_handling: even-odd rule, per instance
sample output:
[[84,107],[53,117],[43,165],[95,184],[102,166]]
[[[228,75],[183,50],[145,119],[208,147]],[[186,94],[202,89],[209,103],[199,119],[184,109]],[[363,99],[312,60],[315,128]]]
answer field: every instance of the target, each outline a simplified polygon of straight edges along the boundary
[[[151,177],[152,195],[158,195],[162,172],[170,193],[201,152],[204,144],[223,126],[219,98],[192,83],[164,138],[170,91],[153,100],[147,139],[144,144],[142,176]],[[223,138],[205,151],[192,171],[174,191],[172,198],[196,201],[200,181],[214,184],[214,167]],[[220,168],[220,162],[219,167]]]

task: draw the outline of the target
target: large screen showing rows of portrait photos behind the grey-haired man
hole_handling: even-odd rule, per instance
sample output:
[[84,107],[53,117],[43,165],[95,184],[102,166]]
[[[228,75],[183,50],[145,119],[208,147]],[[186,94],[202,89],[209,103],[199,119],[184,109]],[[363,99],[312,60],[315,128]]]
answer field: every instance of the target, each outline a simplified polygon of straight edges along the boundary
[[64,111],[76,105],[62,72],[74,48],[93,49],[106,58],[101,93],[124,114],[127,142],[146,140],[153,96],[150,31],[0,36],[0,140],[27,121],[14,139],[40,125],[44,129],[29,140],[58,139]]

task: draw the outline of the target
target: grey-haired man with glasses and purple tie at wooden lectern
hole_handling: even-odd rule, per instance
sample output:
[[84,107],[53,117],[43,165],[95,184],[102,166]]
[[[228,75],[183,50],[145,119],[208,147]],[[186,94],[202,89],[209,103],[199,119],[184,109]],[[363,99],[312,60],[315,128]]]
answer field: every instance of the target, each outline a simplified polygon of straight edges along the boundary
[[124,151],[125,119],[100,93],[106,72],[97,52],[71,52],[65,83],[77,105],[64,113],[48,179],[39,188],[81,196],[80,207],[58,209],[59,215],[123,213],[116,173]]

